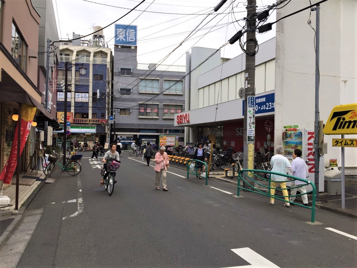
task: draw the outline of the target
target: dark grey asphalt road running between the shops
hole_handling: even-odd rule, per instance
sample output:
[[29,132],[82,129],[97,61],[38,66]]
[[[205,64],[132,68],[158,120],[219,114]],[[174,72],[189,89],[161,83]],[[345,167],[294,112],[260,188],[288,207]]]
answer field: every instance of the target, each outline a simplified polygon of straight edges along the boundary
[[272,206],[254,193],[237,198],[236,185],[209,179],[206,186],[175,167],[169,191],[158,191],[154,163],[148,167],[128,152],[109,196],[90,155],[84,153],[78,176],[57,168],[50,176],[56,182],[45,184],[27,209],[43,212],[17,267],[356,265],[355,219],[316,210],[322,225],[310,225],[311,210],[278,200]]

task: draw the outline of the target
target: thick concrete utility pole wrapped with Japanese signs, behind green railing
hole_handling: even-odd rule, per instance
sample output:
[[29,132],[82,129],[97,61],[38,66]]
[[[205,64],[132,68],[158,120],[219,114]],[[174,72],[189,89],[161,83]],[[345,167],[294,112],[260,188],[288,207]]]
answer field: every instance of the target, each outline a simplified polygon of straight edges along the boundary
[[[244,91],[244,133],[243,133],[243,169],[254,169],[254,147],[255,147],[255,107],[253,108],[253,118],[248,115],[248,96],[255,97],[255,50],[256,50],[256,0],[248,0],[247,5],[247,40],[246,40],[246,68],[245,68],[245,91]],[[251,55],[252,54],[252,55]],[[254,106],[255,106],[255,98]],[[254,124],[248,124],[253,119]],[[253,130],[254,135],[248,135]],[[251,134],[251,133],[250,133]],[[248,141],[249,137],[249,141]],[[252,175],[252,174],[247,174]],[[248,183],[243,181],[243,187],[253,190],[254,181],[250,177],[245,178]]]

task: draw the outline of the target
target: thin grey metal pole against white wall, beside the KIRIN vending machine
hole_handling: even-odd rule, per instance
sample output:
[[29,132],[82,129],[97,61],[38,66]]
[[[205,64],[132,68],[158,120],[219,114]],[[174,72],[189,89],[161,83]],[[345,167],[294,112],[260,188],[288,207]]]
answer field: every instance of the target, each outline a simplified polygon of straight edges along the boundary
[[[320,172],[320,143],[319,140],[319,125],[320,125],[320,111],[319,105],[319,87],[320,87],[320,71],[319,71],[319,60],[320,60],[320,5],[316,5],[316,58],[315,58],[315,129],[314,129],[314,160],[315,160],[315,186],[316,186],[316,201],[318,201],[318,180]],[[322,125],[320,126],[322,127]],[[322,129],[320,129],[322,131]]]

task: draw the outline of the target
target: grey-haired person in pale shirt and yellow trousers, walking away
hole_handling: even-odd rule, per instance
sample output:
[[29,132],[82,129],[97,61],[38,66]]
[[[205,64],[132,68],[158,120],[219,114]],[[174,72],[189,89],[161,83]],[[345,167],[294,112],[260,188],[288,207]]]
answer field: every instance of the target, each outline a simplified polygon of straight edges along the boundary
[[[286,168],[288,168],[288,174],[292,175],[290,162],[285,156],[282,155],[283,152],[284,152],[284,147],[282,147],[281,145],[276,147],[276,155],[274,155],[270,159],[270,165],[272,167],[271,171],[286,174]],[[281,191],[283,192],[284,199],[286,201],[289,201],[289,194],[288,194],[288,190],[286,189],[286,180],[287,177],[285,176],[271,174],[270,185],[272,189],[270,189],[270,194],[271,195],[275,194],[275,188],[279,183]],[[269,204],[274,205],[274,198],[272,197],[270,198]],[[290,203],[285,202],[284,206],[290,207]]]

